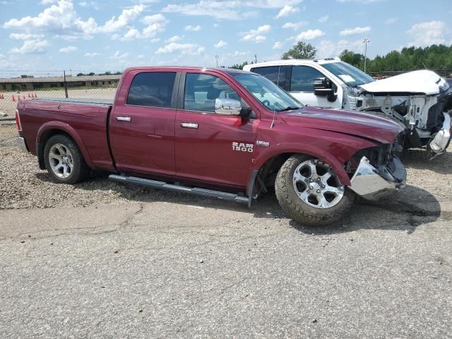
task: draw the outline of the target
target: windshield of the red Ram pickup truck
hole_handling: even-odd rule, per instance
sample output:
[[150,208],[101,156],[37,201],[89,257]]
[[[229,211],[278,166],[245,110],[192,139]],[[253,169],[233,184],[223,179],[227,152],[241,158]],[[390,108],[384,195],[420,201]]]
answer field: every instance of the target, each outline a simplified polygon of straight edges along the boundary
[[263,76],[232,74],[232,76],[271,111],[283,112],[303,107],[302,103]]

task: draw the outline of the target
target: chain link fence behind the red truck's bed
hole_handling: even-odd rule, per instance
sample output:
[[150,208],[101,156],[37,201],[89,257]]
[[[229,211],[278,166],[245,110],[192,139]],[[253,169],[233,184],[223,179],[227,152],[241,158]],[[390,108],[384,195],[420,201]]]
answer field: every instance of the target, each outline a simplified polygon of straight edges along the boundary
[[14,72],[20,76],[11,78],[11,73],[0,71],[0,147],[14,145],[14,138],[18,135],[15,122],[18,102],[34,98],[112,100],[121,77],[119,73],[86,75],[65,71]]

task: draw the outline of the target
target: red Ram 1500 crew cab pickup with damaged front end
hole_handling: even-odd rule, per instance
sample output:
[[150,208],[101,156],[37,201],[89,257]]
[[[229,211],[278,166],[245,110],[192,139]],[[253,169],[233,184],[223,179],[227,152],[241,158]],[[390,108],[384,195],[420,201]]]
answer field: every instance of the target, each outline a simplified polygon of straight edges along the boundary
[[405,184],[403,128],[359,112],[305,107],[256,73],[126,69],[114,102],[25,100],[18,143],[55,182],[109,179],[251,203],[270,187],[306,225],[340,219],[355,195]]

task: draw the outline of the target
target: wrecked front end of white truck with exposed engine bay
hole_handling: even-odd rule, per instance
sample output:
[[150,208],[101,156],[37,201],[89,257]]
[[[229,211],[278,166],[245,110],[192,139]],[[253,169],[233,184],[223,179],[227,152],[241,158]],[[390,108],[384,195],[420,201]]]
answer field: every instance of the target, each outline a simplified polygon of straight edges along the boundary
[[349,105],[405,127],[404,148],[444,153],[451,140],[452,88],[431,71],[415,71],[353,88]]

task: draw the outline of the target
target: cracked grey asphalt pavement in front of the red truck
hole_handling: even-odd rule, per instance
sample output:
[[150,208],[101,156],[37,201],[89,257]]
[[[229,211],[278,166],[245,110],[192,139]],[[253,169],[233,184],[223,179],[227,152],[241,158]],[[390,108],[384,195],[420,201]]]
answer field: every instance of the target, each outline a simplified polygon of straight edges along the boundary
[[450,338],[452,206],[419,198],[0,210],[0,338]]

